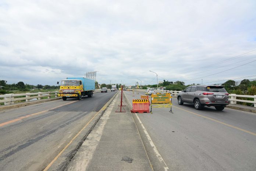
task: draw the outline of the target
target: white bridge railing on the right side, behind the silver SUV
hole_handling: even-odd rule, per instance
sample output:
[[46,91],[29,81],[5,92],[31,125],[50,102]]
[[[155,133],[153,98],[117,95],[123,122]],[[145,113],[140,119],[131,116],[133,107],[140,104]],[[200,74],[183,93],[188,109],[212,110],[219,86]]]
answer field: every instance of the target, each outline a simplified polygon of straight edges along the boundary
[[[137,89],[136,89],[137,90]],[[135,90],[135,91],[136,91]],[[138,89],[140,92],[145,92],[146,90]],[[179,92],[181,91],[172,91],[172,90],[156,90],[157,93],[171,93],[172,96],[177,96]],[[253,103],[254,107],[256,107],[256,95],[249,96],[249,95],[236,95],[236,94],[229,94],[230,97],[230,104],[237,104],[237,101],[240,102],[246,102],[246,103]],[[237,99],[237,97],[247,97],[247,98],[253,98],[254,100],[241,100]]]

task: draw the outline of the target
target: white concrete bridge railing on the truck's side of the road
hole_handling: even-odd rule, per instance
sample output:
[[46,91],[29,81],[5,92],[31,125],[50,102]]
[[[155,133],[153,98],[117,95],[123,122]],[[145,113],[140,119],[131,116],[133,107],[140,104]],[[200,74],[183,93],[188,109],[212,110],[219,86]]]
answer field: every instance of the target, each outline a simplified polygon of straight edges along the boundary
[[[95,89],[93,92],[100,92],[100,89]],[[33,96],[37,95],[37,96]],[[22,96],[15,98],[17,96]],[[0,95],[0,103],[4,103],[4,105],[7,104],[14,104],[15,101],[19,100],[26,100],[27,101],[34,101],[34,100],[41,100],[43,97],[47,97],[47,99],[50,99],[51,97],[58,97],[58,91],[56,92],[38,92],[38,93],[21,93],[21,94],[5,94]]]

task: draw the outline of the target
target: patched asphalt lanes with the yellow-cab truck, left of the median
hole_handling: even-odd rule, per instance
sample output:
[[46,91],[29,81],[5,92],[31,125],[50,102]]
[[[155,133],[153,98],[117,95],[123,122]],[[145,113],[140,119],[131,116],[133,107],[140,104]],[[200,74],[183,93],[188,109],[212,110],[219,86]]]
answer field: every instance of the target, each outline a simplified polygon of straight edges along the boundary
[[44,170],[115,93],[0,111],[0,170]]

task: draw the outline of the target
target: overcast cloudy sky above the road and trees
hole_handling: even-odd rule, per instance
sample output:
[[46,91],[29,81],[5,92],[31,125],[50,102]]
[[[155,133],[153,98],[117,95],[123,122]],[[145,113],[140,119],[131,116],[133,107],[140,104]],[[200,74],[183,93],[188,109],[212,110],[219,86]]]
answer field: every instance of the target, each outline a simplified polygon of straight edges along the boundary
[[9,84],[56,85],[88,71],[99,83],[156,84],[151,70],[188,85],[256,75],[255,60],[255,0],[0,0]]

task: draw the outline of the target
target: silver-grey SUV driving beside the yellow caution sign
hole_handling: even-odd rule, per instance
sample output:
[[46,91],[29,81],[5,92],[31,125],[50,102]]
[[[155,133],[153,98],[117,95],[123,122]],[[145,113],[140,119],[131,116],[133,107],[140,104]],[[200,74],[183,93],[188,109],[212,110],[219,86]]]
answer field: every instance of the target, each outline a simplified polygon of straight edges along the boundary
[[194,104],[195,109],[200,110],[204,106],[214,106],[216,110],[223,110],[230,103],[228,92],[224,86],[196,85],[189,86],[178,93],[178,104]]

